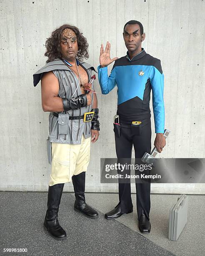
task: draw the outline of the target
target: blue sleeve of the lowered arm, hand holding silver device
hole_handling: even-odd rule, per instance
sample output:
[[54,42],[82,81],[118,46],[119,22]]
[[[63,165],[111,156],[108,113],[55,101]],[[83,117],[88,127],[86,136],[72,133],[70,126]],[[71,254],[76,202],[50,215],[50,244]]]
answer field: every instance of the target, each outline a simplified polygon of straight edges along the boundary
[[150,71],[150,83],[153,90],[153,112],[154,112],[154,120],[155,120],[155,133],[164,133],[164,130],[165,130],[165,107],[164,107],[164,100],[163,100],[164,74],[162,72],[160,60],[158,60],[158,64],[156,64],[156,67],[152,67]]

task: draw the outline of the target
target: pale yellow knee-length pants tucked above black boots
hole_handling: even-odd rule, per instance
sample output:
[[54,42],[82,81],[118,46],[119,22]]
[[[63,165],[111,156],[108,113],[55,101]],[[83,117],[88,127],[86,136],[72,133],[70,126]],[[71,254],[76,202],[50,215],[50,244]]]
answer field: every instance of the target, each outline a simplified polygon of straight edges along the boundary
[[52,143],[49,186],[71,182],[72,175],[87,171],[90,161],[90,138],[82,134],[81,144]]

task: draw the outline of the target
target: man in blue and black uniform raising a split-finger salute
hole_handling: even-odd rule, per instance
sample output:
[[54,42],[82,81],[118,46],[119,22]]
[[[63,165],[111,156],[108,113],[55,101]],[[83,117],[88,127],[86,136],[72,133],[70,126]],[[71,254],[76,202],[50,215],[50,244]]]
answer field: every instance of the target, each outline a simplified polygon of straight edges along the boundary
[[[110,59],[109,42],[107,42],[105,51],[101,45],[98,79],[102,94],[108,94],[117,85],[117,115],[120,120],[115,122],[118,123],[117,125],[114,124],[117,159],[131,159],[134,146],[137,161],[145,152],[150,154],[151,151],[151,89],[156,133],[154,145],[161,153],[166,144],[163,136],[165,123],[164,75],[160,60],[147,54],[141,48],[142,41],[145,40],[145,33],[143,25],[139,21],[130,20],[125,24],[123,38],[128,52],[120,59],[117,57]],[[108,77],[107,66],[113,61],[115,64]],[[127,172],[129,174],[130,170]],[[130,179],[126,179],[126,181],[119,179],[118,182],[120,202],[114,210],[105,214],[107,219],[118,218],[124,213],[133,212]],[[150,180],[140,183],[136,181],[135,183],[139,229],[142,233],[148,233],[151,228],[149,218]]]

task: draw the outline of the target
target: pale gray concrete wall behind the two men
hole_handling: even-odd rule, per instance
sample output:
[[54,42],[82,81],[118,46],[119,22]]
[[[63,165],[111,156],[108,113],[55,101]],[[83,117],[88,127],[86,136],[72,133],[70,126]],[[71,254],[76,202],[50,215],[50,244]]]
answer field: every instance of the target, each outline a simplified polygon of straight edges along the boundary
[[[140,20],[146,33],[142,46],[161,59],[165,74],[165,128],[171,133],[161,156],[203,158],[204,13],[203,0],[0,1],[0,190],[47,190],[48,113],[42,111],[40,85],[33,87],[32,74],[45,64],[46,38],[63,23],[82,30],[89,43],[88,62],[97,67],[100,44],[110,41],[111,57],[125,55],[123,26]],[[115,157],[112,118],[117,93],[101,95],[98,82],[95,88],[101,131],[91,148],[86,191],[117,192],[116,184],[100,184],[100,157]],[[152,128],[154,141],[154,123]],[[156,193],[205,192],[204,184],[151,187]],[[66,190],[72,191],[72,184],[66,184]]]

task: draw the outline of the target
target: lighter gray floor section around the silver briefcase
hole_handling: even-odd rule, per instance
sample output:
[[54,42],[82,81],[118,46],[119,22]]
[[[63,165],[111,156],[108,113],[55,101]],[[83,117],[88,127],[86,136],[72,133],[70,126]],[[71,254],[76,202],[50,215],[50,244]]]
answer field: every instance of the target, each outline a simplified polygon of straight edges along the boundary
[[[168,239],[169,210],[178,195],[151,195],[151,232],[143,234],[177,256],[205,255],[205,195],[188,195],[188,222],[177,241]],[[87,194],[87,202],[105,213],[118,203],[117,194]],[[133,213],[124,214],[117,221],[140,233],[137,221],[136,196],[132,194]],[[111,220],[112,221],[112,220]],[[141,233],[140,233],[141,234]]]

